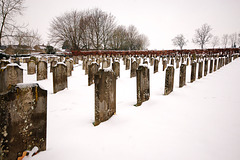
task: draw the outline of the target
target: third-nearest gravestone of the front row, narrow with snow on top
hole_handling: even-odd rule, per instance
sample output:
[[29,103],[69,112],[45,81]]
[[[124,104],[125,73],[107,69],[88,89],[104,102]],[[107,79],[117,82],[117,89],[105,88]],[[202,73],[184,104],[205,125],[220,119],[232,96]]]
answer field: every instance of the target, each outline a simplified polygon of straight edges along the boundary
[[150,98],[150,77],[147,65],[140,65],[137,69],[137,104],[141,104]]

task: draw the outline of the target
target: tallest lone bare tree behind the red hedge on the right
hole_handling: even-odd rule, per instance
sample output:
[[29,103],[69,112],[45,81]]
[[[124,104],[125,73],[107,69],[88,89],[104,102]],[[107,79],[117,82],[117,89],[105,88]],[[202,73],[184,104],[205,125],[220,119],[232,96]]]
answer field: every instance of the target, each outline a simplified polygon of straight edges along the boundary
[[200,45],[201,49],[211,40],[212,34],[211,26],[208,24],[203,24],[201,28],[196,29],[196,33],[193,38],[193,43]]

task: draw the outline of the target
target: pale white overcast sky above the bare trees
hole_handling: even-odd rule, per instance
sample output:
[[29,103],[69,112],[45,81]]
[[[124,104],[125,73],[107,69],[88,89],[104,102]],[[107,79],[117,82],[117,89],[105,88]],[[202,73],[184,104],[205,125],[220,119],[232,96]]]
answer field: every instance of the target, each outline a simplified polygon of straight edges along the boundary
[[54,17],[96,7],[114,15],[118,24],[136,26],[149,38],[149,49],[175,49],[172,39],[178,34],[188,39],[185,48],[199,48],[192,38],[204,23],[219,37],[240,33],[240,0],[25,0],[24,6],[18,23],[37,29],[45,44]]

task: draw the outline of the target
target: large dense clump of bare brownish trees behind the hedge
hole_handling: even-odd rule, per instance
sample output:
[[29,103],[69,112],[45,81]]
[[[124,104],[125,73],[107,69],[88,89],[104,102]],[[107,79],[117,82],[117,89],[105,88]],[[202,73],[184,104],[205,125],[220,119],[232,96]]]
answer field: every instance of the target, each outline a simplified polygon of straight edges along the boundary
[[133,25],[117,25],[115,17],[95,8],[71,11],[56,17],[50,25],[52,43],[71,50],[144,50],[148,38]]

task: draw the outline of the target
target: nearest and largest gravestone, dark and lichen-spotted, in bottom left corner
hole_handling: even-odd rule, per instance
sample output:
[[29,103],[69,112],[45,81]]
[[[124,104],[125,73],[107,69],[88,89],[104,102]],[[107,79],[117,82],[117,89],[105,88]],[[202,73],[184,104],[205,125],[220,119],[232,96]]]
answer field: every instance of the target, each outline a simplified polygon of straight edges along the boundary
[[47,91],[18,84],[0,94],[0,104],[0,159],[15,160],[35,146],[46,150]]

